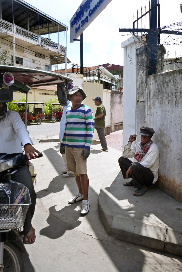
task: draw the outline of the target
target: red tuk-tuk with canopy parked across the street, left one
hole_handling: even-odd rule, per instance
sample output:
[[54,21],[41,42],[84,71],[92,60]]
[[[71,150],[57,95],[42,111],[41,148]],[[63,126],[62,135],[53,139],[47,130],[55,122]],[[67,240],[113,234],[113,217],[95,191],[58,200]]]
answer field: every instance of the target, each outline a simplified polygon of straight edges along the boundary
[[[26,102],[12,102],[19,107],[19,115],[22,117],[22,120],[25,121],[25,110],[22,110],[22,106],[26,104]],[[28,102],[28,105],[33,105],[33,112],[27,113],[27,124],[31,124],[32,121],[35,121],[38,125],[41,124],[42,120],[45,119],[44,117],[44,103],[43,102]],[[35,107],[37,105],[37,107]],[[38,105],[39,106],[38,108]]]

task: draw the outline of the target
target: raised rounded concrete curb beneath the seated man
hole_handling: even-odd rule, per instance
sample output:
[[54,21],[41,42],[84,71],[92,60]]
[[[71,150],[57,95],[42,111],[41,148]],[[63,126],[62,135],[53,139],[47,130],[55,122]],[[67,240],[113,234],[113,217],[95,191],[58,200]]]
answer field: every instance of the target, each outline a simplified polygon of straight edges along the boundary
[[[121,187],[122,183],[123,180],[121,182],[121,179],[115,179],[114,181],[107,180],[102,186],[99,194],[99,216],[106,232],[114,238],[125,242],[182,256],[181,219],[177,220],[176,223],[174,222],[175,218],[179,216],[178,210],[182,208],[182,204],[155,187],[153,187],[150,192],[147,192],[148,196],[146,194],[145,198],[142,198],[142,196],[140,199],[136,199],[135,197],[133,203],[136,203],[134,205],[130,204],[132,203],[132,196],[129,196],[130,201],[124,198],[127,198],[125,195],[126,192],[133,193],[134,188],[132,187],[133,190],[131,188],[129,189],[129,187],[123,189]],[[113,189],[110,189],[111,187],[113,187]],[[118,200],[112,195],[112,192],[116,191],[119,191],[124,197],[121,197]],[[122,191],[124,193],[122,193]],[[151,196],[160,197],[161,206],[159,206],[159,209],[164,212],[164,215],[165,213],[168,213],[168,218],[166,220],[163,217],[161,219],[164,221],[161,220],[157,213],[156,215],[158,218],[155,215],[155,207],[151,207],[153,204]],[[176,214],[175,211],[170,213],[170,211],[167,210],[169,205],[166,204],[166,198],[170,200],[168,202],[170,202],[170,205],[173,205],[172,207],[174,207],[174,210],[177,210]],[[130,203],[128,204],[128,202]],[[139,202],[139,204],[137,202]],[[128,205],[131,207],[128,208]],[[143,205],[143,209],[140,210]],[[140,212],[142,216],[144,214],[143,219],[141,219]],[[153,221],[151,219],[148,220],[150,215],[152,215],[152,212],[154,212]],[[145,217],[147,217],[147,220]]]

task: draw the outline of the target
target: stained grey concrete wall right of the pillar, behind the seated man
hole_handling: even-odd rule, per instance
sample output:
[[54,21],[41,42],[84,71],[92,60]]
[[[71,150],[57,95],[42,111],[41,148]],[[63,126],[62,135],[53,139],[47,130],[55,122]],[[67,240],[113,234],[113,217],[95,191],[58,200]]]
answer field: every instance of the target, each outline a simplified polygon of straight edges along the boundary
[[156,186],[182,202],[182,69],[147,79],[147,125],[160,151]]

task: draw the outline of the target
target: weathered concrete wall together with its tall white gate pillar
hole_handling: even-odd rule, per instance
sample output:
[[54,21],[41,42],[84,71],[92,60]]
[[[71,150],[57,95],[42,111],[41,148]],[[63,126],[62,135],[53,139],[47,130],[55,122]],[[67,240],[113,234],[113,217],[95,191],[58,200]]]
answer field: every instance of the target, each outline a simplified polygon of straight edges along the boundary
[[[132,41],[131,39],[133,38],[129,41]],[[146,47],[139,48],[134,41],[133,43],[129,41],[123,43],[125,67],[123,147],[130,134],[137,134],[136,141],[140,141],[141,126],[154,128],[155,134],[152,139],[160,151],[159,178],[156,186],[182,202],[180,141],[182,69],[148,77]],[[159,65],[164,52],[165,48],[158,48]],[[135,65],[130,63],[128,55],[130,60],[135,60]]]

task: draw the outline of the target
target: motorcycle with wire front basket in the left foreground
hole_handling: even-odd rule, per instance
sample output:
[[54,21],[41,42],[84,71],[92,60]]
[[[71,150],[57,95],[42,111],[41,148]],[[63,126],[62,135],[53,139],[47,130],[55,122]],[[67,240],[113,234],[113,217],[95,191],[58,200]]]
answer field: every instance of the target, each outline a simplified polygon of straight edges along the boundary
[[0,154],[0,272],[25,272],[29,261],[19,229],[31,205],[30,194],[23,184],[10,180],[13,171],[27,165],[23,153]]

